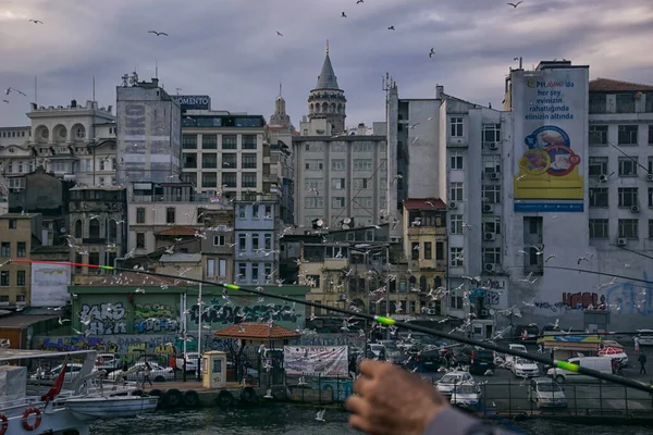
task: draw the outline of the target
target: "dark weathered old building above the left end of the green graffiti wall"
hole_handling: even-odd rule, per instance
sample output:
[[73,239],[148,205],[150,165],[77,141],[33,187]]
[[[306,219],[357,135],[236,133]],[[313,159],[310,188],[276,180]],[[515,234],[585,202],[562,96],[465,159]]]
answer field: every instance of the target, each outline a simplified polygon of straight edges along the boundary
[[[76,186],[70,189],[70,261],[116,265],[127,247],[127,198],[123,186]],[[75,284],[103,270],[75,268]]]

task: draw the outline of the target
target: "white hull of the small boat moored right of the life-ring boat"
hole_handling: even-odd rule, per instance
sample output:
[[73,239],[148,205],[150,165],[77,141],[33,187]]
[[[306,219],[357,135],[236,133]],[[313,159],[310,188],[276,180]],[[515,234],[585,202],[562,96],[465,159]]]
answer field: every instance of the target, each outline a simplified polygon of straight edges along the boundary
[[157,410],[158,397],[93,397],[66,400],[65,407],[79,420],[136,417]]

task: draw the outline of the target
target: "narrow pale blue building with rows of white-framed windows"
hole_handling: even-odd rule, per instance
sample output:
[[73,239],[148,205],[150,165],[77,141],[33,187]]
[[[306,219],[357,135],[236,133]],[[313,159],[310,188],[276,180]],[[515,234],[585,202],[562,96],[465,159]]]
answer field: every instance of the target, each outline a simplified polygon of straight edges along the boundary
[[234,281],[269,284],[279,279],[279,200],[259,196],[234,201]]

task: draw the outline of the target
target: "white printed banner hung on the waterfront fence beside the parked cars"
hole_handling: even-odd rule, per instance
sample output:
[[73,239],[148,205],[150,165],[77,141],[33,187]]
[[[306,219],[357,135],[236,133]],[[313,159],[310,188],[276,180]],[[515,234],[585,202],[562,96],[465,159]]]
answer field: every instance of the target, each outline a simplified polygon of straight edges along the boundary
[[347,346],[284,346],[283,366],[286,374],[296,376],[346,376],[347,353]]

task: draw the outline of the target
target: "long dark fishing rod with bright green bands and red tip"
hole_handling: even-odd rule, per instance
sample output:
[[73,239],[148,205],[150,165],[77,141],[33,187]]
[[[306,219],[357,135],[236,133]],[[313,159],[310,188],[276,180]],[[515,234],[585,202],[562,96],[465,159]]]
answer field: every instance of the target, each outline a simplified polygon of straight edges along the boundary
[[[118,272],[124,272],[124,273],[136,273],[136,274],[149,275],[149,276],[165,277],[165,278],[170,278],[170,279],[180,279],[180,276],[175,276],[175,275],[169,275],[169,274],[149,272],[149,271],[140,271],[140,270],[134,270],[134,269],[113,268],[110,265],[74,263],[74,262],[65,262],[65,261],[45,261],[45,260],[11,260],[11,262],[32,263],[32,264],[35,264],[35,263],[36,264],[59,264],[59,265],[69,265],[69,266],[78,266],[78,268],[88,268],[88,269],[99,269],[99,270],[106,270],[106,271],[118,271]],[[512,355],[514,357],[519,357],[519,358],[528,359],[531,361],[540,362],[545,365],[552,365],[554,368],[557,368],[560,370],[566,370],[568,372],[584,374],[584,375],[594,377],[596,380],[612,382],[612,383],[615,383],[615,384],[618,384],[618,385],[621,385],[625,387],[630,387],[630,388],[639,389],[640,391],[653,394],[653,387],[648,386],[648,385],[637,382],[637,381],[616,376],[616,375],[609,374],[609,373],[602,373],[596,370],[587,369],[584,366],[580,366],[577,364],[571,364],[567,361],[559,361],[559,360],[555,360],[555,359],[551,359],[551,358],[545,358],[540,355],[525,353],[519,350],[514,350],[514,349],[510,349],[507,347],[496,346],[491,343],[476,340],[476,339],[468,338],[468,337],[458,337],[458,336],[443,333],[443,332],[440,332],[440,331],[436,331],[436,330],[433,330],[430,327],[415,325],[415,324],[407,323],[407,322],[401,322],[401,321],[397,321],[397,320],[394,320],[394,319],[387,318],[387,316],[368,314],[368,313],[364,313],[364,312],[356,312],[353,310],[346,310],[344,308],[337,308],[337,307],[325,307],[320,303],[311,302],[308,300],[291,298],[288,296],[270,295],[270,294],[266,293],[264,289],[258,290],[256,288],[247,288],[247,287],[239,286],[236,284],[218,284],[218,283],[211,283],[210,281],[197,279],[197,278],[192,278],[192,277],[183,277],[182,281],[189,282],[189,283],[204,284],[204,285],[213,286],[213,287],[222,287],[225,290],[243,291],[243,293],[258,295],[258,296],[262,296],[262,297],[271,297],[274,299],[281,299],[281,300],[285,300],[287,302],[299,303],[299,304],[313,307],[313,308],[321,308],[321,309],[326,308],[330,311],[346,314],[352,318],[359,318],[359,319],[372,321],[384,327],[393,326],[393,327],[397,327],[397,328],[405,328],[408,331],[433,335],[433,336],[440,337],[440,338],[446,338],[446,339],[453,340],[453,341],[460,341],[466,345],[481,347],[481,348],[493,350],[493,351],[500,352],[500,353]]]

